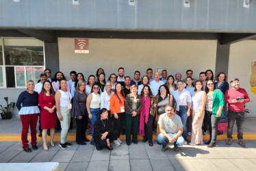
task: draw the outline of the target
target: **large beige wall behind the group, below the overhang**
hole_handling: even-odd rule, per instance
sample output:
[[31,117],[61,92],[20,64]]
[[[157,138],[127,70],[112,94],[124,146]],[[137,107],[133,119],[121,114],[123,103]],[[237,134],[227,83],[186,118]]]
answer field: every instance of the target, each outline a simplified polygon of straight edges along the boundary
[[90,53],[74,53],[74,38],[58,38],[60,70],[69,77],[71,70],[95,75],[97,68],[103,68],[106,77],[117,73],[120,66],[125,75],[133,78],[135,70],[141,76],[147,68],[165,68],[168,75],[185,70],[194,70],[194,77],[201,71],[215,70],[216,40],[127,40],[127,39],[89,39]]

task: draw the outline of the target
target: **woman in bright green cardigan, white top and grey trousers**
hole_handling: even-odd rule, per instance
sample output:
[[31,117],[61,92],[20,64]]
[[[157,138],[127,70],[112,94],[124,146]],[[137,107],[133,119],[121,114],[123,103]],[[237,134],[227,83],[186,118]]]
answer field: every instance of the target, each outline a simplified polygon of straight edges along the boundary
[[209,141],[205,142],[207,147],[216,146],[218,122],[224,116],[223,106],[225,104],[223,93],[215,89],[214,81],[208,80],[206,82],[205,93],[207,95],[205,105],[205,118],[209,125]]

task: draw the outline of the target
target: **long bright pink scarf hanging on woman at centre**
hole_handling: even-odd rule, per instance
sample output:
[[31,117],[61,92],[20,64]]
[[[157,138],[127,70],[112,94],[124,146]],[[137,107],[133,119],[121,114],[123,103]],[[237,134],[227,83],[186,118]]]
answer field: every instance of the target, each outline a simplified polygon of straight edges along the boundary
[[140,129],[139,134],[144,136],[144,121],[147,124],[149,120],[149,111],[150,111],[150,97],[146,96],[146,100],[144,100],[144,96],[142,96],[142,109],[140,110]]

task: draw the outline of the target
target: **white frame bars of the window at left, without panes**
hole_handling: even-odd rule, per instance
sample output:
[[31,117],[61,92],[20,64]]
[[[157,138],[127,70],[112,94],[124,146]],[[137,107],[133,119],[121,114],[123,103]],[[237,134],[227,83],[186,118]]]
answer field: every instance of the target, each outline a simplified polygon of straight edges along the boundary
[[[13,37],[8,37],[8,38],[10,38],[10,39],[36,39],[36,38],[13,38]],[[1,39],[1,43],[2,43],[2,51],[3,51],[3,54],[2,54],[2,56],[3,56],[3,66],[2,65],[0,65],[0,67],[3,67],[2,68],[2,70],[3,70],[3,86],[0,86],[0,89],[4,89],[4,88],[7,88],[7,85],[6,85],[6,81],[7,81],[7,79],[6,79],[6,68],[5,67],[14,67],[14,80],[15,80],[15,88],[27,88],[27,70],[26,70],[26,68],[27,67],[32,67],[32,68],[36,68],[36,67],[42,67],[42,68],[44,68],[45,69],[45,50],[44,50],[44,42],[42,41],[42,40],[40,40],[40,41],[42,41],[42,51],[43,51],[43,60],[44,60],[44,65],[43,66],[16,66],[16,65],[5,65],[5,49],[4,49],[4,39],[8,39],[7,37],[0,37],[0,39]],[[37,39],[38,40],[38,39]],[[17,86],[17,81],[16,81],[16,67],[24,67],[24,72],[25,72],[25,86]],[[37,82],[36,82],[37,83]],[[35,83],[35,84],[36,84]],[[14,88],[10,88],[10,89],[14,89]]]

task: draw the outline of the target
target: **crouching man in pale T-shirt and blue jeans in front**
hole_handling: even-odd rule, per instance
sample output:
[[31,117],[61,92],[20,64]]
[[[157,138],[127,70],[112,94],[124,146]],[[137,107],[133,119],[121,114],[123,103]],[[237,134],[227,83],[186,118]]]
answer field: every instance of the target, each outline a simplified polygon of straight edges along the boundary
[[159,117],[158,124],[160,132],[157,135],[157,142],[162,144],[162,151],[166,151],[168,142],[173,143],[174,150],[179,151],[178,146],[185,144],[183,133],[183,124],[181,118],[175,114],[174,109],[170,105],[166,105],[166,113]]

